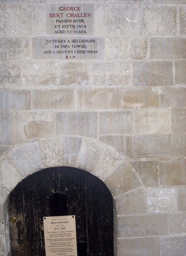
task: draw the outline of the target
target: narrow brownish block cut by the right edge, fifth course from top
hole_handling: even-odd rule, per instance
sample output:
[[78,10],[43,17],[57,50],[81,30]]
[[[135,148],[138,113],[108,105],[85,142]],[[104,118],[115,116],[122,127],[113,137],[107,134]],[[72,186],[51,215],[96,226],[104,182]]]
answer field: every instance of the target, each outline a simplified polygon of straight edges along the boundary
[[186,108],[172,109],[173,133],[185,133],[186,131]]

